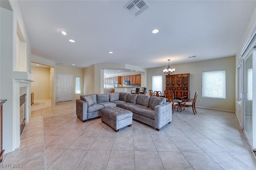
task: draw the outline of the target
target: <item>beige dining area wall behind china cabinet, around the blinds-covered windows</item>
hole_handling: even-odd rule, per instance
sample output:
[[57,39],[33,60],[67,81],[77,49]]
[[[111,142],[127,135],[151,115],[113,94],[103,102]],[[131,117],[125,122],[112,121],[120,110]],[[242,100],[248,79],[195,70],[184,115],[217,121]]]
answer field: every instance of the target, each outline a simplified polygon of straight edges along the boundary
[[[175,74],[190,73],[190,98],[198,91],[196,106],[227,111],[235,111],[235,57],[197,61],[171,65],[176,68]],[[152,89],[152,76],[163,75],[166,67],[148,69],[148,89]],[[226,70],[226,99],[202,98],[202,71]],[[163,75],[163,90],[165,90],[165,76]],[[201,100],[201,102],[198,102]]]

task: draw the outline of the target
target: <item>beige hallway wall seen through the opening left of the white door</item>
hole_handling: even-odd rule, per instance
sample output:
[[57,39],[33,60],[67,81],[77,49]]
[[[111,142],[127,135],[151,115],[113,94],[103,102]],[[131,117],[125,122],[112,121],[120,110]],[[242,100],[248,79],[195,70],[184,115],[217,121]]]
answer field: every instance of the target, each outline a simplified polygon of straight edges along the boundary
[[31,67],[31,74],[35,78],[31,83],[34,100],[50,99],[50,68]]

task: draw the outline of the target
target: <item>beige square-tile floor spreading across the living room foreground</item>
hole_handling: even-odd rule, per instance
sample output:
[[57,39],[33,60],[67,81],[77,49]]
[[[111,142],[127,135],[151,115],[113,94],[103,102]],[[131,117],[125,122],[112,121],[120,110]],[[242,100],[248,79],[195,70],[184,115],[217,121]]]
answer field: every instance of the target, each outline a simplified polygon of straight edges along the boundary
[[[75,101],[32,111],[21,146],[3,164],[26,170],[256,170],[236,115],[196,108],[174,111],[160,131],[133,121],[114,132],[100,118],[80,121]],[[1,170],[10,169],[1,165]],[[12,168],[15,169],[15,168]]]

